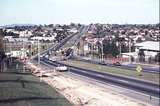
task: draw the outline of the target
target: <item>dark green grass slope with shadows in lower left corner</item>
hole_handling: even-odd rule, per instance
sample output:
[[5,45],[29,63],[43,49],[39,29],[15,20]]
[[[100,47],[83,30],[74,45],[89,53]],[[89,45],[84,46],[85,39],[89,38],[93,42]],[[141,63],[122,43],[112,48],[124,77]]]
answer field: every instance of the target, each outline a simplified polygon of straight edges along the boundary
[[[18,65],[17,65],[18,64]],[[0,106],[72,106],[54,88],[15,61],[0,72]]]

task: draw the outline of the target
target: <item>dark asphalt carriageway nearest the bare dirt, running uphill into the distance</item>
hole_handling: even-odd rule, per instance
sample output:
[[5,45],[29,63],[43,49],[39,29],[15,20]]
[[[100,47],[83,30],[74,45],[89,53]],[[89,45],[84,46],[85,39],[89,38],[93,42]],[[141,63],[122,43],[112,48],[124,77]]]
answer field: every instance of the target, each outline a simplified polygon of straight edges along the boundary
[[[48,49],[47,51],[41,53],[41,55],[47,53],[50,50],[56,51],[56,50],[60,49],[73,36],[77,36],[77,37],[81,36],[85,32],[86,29],[87,28],[85,28],[85,27],[81,28],[81,30],[78,33],[73,34],[73,35],[65,38],[58,45],[56,45],[56,46]],[[153,83],[150,83],[150,82],[147,82],[147,81],[133,79],[133,78],[129,78],[129,77],[122,77],[122,76],[118,76],[118,75],[113,75],[113,74],[88,70],[88,69],[84,69],[84,68],[78,68],[76,66],[69,66],[69,65],[57,62],[57,61],[51,61],[51,60],[45,58],[44,56],[41,58],[41,61],[43,61],[46,64],[52,65],[52,66],[65,65],[69,68],[69,71],[71,73],[75,73],[75,74],[78,74],[78,75],[83,75],[83,76],[86,76],[86,77],[89,77],[89,78],[96,79],[100,82],[110,83],[110,84],[113,84],[113,85],[117,85],[117,86],[124,87],[124,88],[127,88],[127,89],[132,89],[132,90],[142,92],[144,94],[159,98],[160,90],[159,90],[159,85],[158,84],[153,84]]]

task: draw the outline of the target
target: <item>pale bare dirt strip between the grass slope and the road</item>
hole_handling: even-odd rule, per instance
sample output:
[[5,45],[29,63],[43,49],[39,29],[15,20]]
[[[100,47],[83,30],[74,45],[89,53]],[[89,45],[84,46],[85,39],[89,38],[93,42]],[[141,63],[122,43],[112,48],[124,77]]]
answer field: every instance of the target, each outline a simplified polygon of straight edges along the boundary
[[44,77],[42,80],[56,88],[75,106],[150,106],[150,104],[132,99],[110,89],[107,90],[72,77],[57,75]]

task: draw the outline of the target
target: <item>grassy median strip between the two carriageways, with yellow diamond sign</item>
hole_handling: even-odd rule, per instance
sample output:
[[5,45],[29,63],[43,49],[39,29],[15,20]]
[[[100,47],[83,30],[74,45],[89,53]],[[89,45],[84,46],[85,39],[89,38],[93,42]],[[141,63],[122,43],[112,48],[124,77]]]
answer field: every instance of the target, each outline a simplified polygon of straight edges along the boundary
[[155,74],[155,73],[142,72],[141,73],[142,76],[139,76],[138,75],[139,73],[137,71],[91,64],[91,63],[82,62],[82,61],[68,60],[68,61],[64,61],[64,63],[72,66],[90,69],[90,70],[102,71],[106,73],[112,73],[112,74],[129,76],[129,77],[134,77],[134,78],[143,79],[147,81],[152,81],[153,83],[157,83],[157,84],[159,84],[159,80],[160,80],[159,74]]

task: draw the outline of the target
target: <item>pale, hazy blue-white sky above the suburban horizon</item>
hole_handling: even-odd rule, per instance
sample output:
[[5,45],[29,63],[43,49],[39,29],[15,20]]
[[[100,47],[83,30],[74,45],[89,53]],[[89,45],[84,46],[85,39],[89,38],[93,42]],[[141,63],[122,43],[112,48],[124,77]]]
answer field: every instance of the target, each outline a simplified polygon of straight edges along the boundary
[[159,0],[0,0],[0,25],[156,24]]

